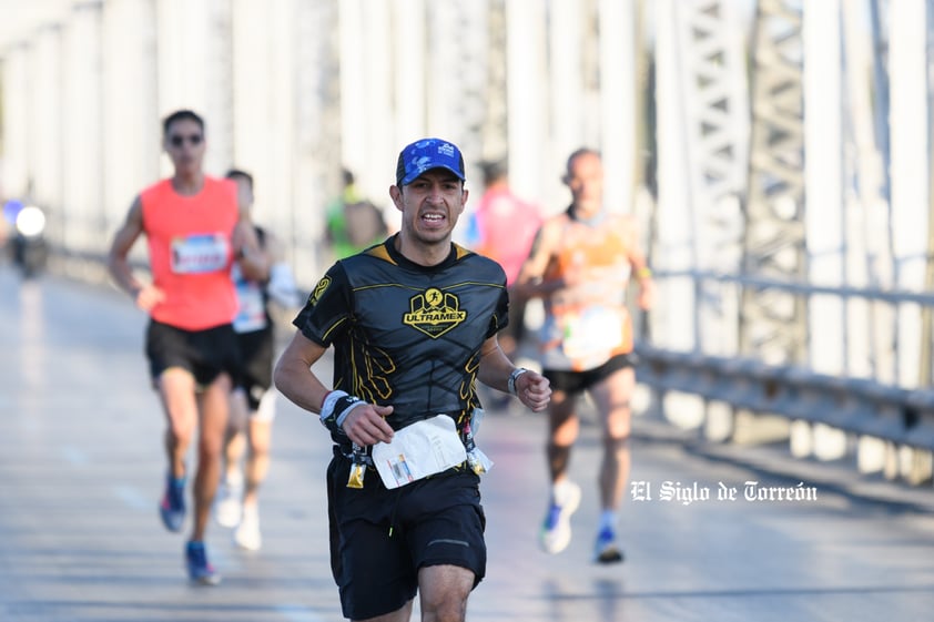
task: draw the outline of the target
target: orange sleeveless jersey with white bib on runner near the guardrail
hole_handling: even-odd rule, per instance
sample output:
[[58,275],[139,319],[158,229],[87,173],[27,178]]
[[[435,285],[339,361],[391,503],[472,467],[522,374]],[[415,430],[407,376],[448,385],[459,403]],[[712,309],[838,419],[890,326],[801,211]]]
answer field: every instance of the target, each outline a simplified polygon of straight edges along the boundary
[[573,285],[544,299],[541,365],[582,371],[632,350],[632,320],[626,306],[629,224],[626,216],[615,214],[590,223],[567,213],[555,220],[560,227],[558,247],[544,279],[573,273]]

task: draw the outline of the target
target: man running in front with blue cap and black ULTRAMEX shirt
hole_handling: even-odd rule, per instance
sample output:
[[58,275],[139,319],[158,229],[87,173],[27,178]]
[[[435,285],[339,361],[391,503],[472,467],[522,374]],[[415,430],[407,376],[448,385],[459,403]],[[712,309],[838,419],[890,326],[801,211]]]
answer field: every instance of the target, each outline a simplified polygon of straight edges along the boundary
[[[534,411],[550,399],[548,380],[514,367],[497,341],[508,313],[502,268],[451,243],[464,181],[454,144],[406,146],[389,188],[399,233],[327,271],[276,366],[278,389],[319,414],[335,442],[331,559],[352,620],[404,622],[419,590],[423,618],[464,620],[486,569],[476,381]],[[331,346],[333,390],[311,371]],[[413,436],[439,450],[397,447]],[[373,458],[386,447],[392,468]]]

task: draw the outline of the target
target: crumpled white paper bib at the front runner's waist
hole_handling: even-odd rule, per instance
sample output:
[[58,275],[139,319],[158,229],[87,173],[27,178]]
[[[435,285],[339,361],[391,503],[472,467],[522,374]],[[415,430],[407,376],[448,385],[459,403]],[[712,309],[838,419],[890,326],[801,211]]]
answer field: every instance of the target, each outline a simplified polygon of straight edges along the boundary
[[398,430],[393,442],[373,446],[373,462],[388,489],[439,473],[467,459],[454,419],[436,415]]

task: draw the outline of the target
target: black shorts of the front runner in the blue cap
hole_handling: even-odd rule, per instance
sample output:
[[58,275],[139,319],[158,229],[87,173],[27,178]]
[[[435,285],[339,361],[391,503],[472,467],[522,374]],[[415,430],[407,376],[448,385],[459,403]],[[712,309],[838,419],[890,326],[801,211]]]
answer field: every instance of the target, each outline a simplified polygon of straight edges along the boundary
[[375,618],[415,598],[418,570],[451,564],[486,574],[486,517],[480,478],[450,470],[386,490],[368,468],[364,487],[347,488],[351,461],[335,447],[327,468],[331,570],[344,616]]

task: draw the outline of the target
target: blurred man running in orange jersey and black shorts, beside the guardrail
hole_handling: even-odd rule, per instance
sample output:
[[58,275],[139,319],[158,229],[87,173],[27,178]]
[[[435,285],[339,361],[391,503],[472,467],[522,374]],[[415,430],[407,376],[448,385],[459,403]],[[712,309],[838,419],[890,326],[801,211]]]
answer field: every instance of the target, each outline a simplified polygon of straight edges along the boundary
[[571,540],[570,517],[580,503],[580,488],[567,471],[580,426],[577,398],[589,391],[603,439],[595,560],[612,563],[622,561],[616,531],[629,477],[630,398],[636,385],[626,292],[634,275],[638,304],[648,309],[651,271],[633,221],[603,205],[600,154],[588,149],[572,153],[565,182],[572,203],[545,222],[517,279],[520,296],[544,302],[540,361],[554,391],[547,446],[551,497],[540,541],[545,551],[558,553]]

